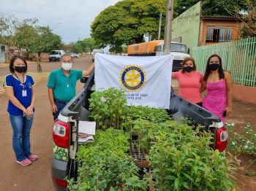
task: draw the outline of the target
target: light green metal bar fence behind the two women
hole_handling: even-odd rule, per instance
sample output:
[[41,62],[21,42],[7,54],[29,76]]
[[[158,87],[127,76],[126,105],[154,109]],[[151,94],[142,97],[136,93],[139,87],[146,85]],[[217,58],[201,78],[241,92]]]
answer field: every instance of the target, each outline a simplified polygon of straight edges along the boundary
[[256,37],[191,49],[197,69],[202,72],[212,54],[222,58],[223,69],[231,72],[234,83],[256,87]]

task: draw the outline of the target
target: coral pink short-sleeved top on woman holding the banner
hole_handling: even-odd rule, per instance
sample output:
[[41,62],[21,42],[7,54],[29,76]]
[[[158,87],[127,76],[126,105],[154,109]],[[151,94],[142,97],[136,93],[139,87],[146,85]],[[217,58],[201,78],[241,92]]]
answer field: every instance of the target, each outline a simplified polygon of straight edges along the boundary
[[200,95],[201,82],[203,74],[199,71],[192,71],[191,74],[182,73],[181,71],[173,72],[173,77],[178,80],[179,95],[187,101],[197,104],[202,102]]

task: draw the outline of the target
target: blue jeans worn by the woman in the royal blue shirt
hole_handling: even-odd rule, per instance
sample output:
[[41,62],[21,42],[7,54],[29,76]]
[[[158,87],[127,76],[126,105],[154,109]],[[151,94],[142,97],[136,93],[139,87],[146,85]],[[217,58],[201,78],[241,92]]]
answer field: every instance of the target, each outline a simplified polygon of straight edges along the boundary
[[33,123],[34,114],[28,120],[23,115],[11,115],[12,124],[12,147],[18,161],[26,159],[31,155],[30,152],[30,129]]

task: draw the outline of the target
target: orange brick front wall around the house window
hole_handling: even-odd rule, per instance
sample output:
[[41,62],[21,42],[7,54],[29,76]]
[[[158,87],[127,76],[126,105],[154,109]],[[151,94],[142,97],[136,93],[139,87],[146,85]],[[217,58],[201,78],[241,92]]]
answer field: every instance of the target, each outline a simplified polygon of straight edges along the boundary
[[216,44],[219,42],[206,42],[206,34],[208,27],[225,26],[227,28],[233,28],[232,40],[239,39],[240,23],[236,20],[201,20],[200,21],[200,39],[199,46]]

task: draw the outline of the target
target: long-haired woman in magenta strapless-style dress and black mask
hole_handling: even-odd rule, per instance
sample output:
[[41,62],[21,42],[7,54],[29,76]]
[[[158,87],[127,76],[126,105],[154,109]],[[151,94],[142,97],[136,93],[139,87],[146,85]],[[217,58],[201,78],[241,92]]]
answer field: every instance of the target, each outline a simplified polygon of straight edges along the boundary
[[232,112],[232,85],[230,73],[222,69],[222,59],[219,55],[211,55],[207,61],[201,89],[201,92],[207,90],[203,107],[220,117],[222,122]]

